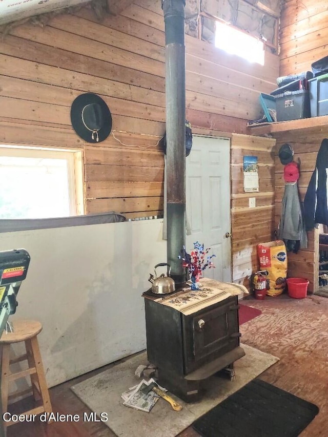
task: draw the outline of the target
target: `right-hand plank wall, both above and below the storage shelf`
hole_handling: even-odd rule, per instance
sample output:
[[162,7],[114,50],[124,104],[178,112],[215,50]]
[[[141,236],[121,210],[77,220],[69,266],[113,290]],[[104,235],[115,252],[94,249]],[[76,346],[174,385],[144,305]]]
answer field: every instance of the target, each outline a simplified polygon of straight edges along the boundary
[[[326,56],[328,28],[327,4],[323,0],[289,0],[283,2],[280,16],[280,75],[311,71],[311,64]],[[316,155],[328,129],[317,127],[275,134],[276,145],[276,209],[278,225],[283,196],[283,166],[277,156],[284,142],[292,144],[295,159],[301,159],[301,174],[298,182],[303,200],[315,168]],[[288,253],[288,276],[301,276],[310,280],[309,291],[318,288],[318,233],[308,232],[309,246],[298,254]]]

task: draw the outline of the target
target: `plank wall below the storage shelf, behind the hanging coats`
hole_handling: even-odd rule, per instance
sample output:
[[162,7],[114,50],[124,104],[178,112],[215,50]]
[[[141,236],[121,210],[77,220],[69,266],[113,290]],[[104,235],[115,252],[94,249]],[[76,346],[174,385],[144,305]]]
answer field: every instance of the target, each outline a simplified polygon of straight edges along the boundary
[[[275,136],[277,138],[275,149],[275,229],[277,230],[284,192],[283,165],[278,157],[279,148],[283,143],[288,142],[294,149],[294,161],[297,162],[298,158],[301,161],[298,187],[300,199],[303,201],[311,175],[315,169],[321,141],[323,138],[328,137],[328,127],[288,131],[275,134]],[[307,249],[303,249],[297,254],[288,252],[288,276],[309,279],[308,290],[310,292],[315,292],[318,289],[318,251],[318,232],[313,230],[308,232]]]

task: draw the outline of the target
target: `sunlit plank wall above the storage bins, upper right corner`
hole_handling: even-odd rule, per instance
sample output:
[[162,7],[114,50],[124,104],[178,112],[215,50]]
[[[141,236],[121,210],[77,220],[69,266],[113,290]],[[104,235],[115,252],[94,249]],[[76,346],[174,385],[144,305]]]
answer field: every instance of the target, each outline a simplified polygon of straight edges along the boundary
[[281,76],[311,71],[311,64],[326,56],[327,19],[325,0],[289,0],[281,3]]

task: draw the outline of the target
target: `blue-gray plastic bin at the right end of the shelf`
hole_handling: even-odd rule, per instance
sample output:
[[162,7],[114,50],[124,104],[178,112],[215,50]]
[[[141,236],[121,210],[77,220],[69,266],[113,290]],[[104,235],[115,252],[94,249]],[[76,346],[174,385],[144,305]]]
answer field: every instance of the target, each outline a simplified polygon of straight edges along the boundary
[[311,117],[328,115],[328,74],[309,80]]

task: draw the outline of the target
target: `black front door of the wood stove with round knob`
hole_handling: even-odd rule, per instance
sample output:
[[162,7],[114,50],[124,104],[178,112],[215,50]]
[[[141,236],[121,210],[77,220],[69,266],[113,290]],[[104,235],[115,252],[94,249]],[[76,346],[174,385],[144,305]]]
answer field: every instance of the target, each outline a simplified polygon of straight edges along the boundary
[[231,296],[185,316],[182,325],[184,368],[188,374],[239,346],[237,298]]

